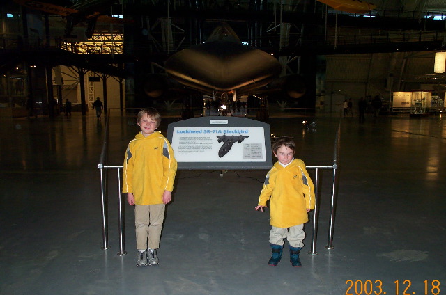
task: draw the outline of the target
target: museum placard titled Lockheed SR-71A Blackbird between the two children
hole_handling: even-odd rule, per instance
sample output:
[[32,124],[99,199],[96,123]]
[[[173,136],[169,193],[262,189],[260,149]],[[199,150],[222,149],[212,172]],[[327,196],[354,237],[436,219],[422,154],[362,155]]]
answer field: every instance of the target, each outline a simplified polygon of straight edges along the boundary
[[183,120],[169,125],[167,138],[180,169],[272,166],[269,125],[256,120],[234,117]]

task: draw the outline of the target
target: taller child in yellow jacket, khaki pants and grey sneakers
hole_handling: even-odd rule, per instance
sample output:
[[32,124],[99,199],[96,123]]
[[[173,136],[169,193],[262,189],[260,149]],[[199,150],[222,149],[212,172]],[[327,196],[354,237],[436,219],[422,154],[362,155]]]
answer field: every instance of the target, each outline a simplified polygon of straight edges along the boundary
[[137,115],[141,132],[130,141],[125,152],[123,193],[134,205],[137,236],[137,266],[159,263],[156,249],[160,246],[164,209],[171,201],[176,175],[176,159],[167,138],[155,130],[161,116],[153,108]]

